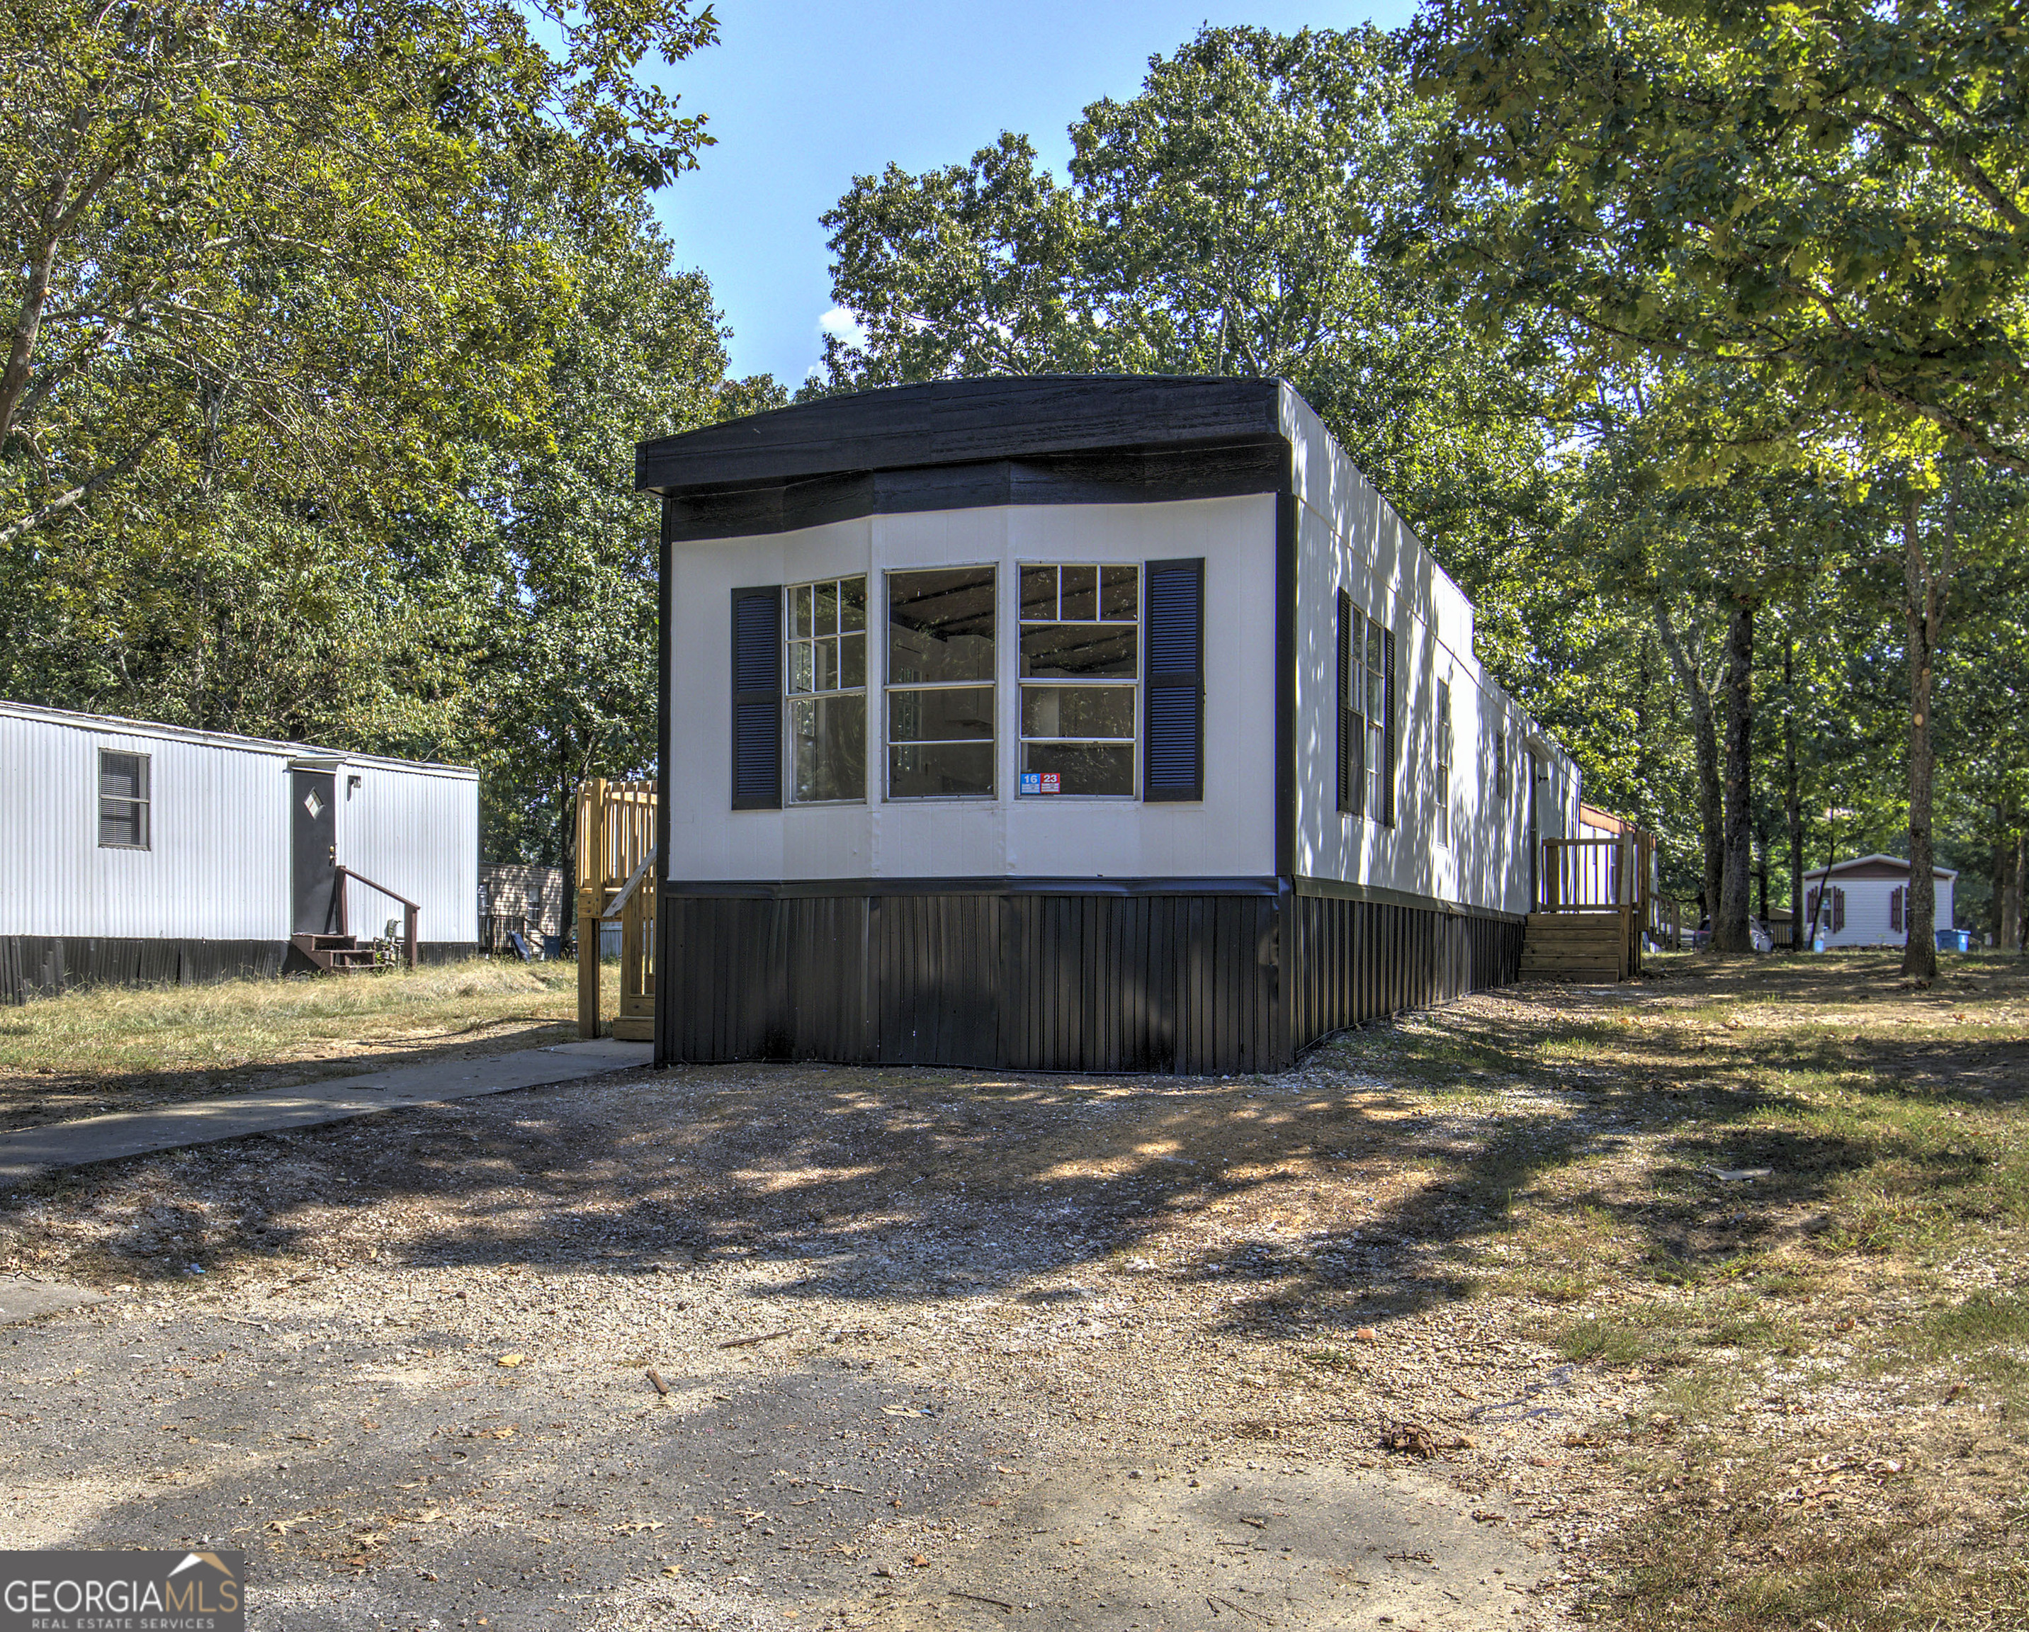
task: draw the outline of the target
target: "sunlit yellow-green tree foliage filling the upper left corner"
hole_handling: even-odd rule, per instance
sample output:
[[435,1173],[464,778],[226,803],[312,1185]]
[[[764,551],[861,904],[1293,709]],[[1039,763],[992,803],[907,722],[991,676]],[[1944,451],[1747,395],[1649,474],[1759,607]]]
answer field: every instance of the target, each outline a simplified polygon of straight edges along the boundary
[[0,6],[0,546],[136,479],[412,487],[446,422],[523,426],[568,290],[501,183],[690,162],[631,69],[712,37],[686,0],[552,22],[560,55],[495,0]]

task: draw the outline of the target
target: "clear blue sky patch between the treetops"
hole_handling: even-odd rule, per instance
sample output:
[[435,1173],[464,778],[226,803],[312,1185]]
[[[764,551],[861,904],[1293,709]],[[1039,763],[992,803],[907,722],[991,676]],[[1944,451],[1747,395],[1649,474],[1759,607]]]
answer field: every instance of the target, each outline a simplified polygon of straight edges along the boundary
[[1295,30],[1406,22],[1384,4],[1209,0],[718,0],[718,45],[661,83],[708,114],[718,144],[659,197],[678,262],[700,266],[732,325],[732,371],[789,386],[818,361],[832,307],[818,217],[854,175],[927,171],[1027,132],[1063,175],[1088,101],[1136,91],[1152,53],[1199,24]]

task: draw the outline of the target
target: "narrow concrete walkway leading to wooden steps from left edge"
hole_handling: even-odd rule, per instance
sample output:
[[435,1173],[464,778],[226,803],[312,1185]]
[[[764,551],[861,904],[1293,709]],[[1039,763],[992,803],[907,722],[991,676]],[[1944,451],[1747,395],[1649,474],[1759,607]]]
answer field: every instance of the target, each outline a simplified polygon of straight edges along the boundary
[[653,1053],[649,1043],[599,1037],[479,1060],[396,1066],[390,1072],[341,1076],[278,1092],[223,1094],[215,1100],[183,1100],[114,1116],[87,1116],[79,1123],[51,1123],[0,1135],[0,1189],[51,1167],[83,1167],[91,1161],[243,1139],[250,1133],[343,1123],[349,1116],[404,1104],[469,1100],[479,1094],[507,1094],[515,1088],[544,1088],[552,1082],[625,1072],[631,1066],[647,1066]]

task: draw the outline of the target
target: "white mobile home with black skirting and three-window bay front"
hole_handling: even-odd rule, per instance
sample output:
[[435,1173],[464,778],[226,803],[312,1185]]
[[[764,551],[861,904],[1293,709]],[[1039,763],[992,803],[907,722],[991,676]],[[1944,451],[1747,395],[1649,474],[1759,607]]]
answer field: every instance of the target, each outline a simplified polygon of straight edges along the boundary
[[1579,773],[1278,380],[962,380],[641,445],[657,1058],[1280,1070],[1512,980]]

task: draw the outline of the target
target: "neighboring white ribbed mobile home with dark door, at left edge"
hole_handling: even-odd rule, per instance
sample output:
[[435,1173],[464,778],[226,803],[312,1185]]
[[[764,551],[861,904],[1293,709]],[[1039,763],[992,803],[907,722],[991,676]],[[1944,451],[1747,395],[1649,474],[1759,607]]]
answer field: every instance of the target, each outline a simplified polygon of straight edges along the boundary
[[[0,702],[0,1001],[477,950],[479,773]],[[308,952],[304,950],[308,946]]]

